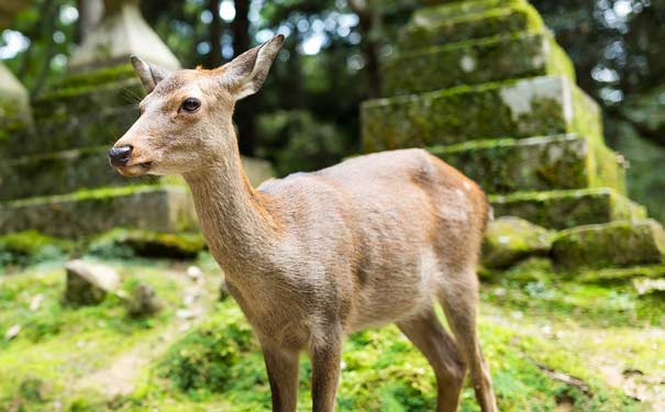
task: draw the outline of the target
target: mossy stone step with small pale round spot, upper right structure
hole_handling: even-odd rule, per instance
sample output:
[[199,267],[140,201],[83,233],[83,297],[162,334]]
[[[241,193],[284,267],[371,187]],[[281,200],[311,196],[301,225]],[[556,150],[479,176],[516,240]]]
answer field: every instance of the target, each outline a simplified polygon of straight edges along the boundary
[[521,32],[397,53],[384,64],[384,93],[419,93],[546,75],[565,76],[575,83],[575,68],[552,35]]

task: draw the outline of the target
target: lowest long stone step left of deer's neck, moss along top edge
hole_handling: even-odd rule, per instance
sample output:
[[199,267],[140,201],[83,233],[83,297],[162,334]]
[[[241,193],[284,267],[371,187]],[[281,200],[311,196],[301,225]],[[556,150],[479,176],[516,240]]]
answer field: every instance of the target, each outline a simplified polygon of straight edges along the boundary
[[77,237],[113,227],[195,230],[191,196],[182,187],[128,186],[0,203],[0,234],[36,230]]

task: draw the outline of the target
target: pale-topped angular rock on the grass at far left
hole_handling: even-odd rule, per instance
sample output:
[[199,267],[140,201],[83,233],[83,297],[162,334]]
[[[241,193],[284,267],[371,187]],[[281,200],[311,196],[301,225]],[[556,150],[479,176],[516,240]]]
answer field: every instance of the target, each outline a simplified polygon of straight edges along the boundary
[[111,267],[84,260],[71,260],[67,269],[65,301],[75,304],[97,304],[120,285],[120,276]]

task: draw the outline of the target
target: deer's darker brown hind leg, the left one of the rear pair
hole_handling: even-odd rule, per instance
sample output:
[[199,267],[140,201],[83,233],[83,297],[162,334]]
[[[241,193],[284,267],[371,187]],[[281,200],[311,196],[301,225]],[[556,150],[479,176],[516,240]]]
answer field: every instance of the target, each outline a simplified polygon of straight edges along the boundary
[[436,318],[433,308],[397,326],[422,352],[436,376],[436,411],[454,412],[459,402],[466,368],[457,346]]

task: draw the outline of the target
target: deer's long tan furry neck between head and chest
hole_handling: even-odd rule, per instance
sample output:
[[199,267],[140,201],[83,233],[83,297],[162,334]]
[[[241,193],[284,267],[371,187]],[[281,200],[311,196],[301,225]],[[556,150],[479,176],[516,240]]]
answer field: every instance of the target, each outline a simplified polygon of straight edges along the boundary
[[277,243],[277,223],[270,199],[252,188],[232,140],[225,156],[209,167],[185,175],[199,223],[211,254],[226,277],[243,282],[269,268]]

